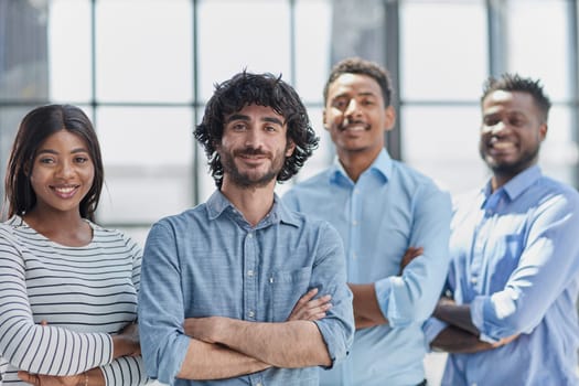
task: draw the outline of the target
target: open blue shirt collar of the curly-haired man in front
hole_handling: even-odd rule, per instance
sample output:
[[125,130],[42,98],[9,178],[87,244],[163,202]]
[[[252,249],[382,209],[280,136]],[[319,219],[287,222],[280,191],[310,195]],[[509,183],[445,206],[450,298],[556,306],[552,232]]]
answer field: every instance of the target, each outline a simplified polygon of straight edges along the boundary
[[[238,213],[237,208],[229,200],[219,191],[216,190],[207,200],[207,211],[210,219],[215,219],[222,215],[226,210]],[[239,214],[240,215],[240,214]],[[277,194],[274,194],[274,206],[268,215],[261,219],[258,226],[267,226],[276,223],[286,223],[298,226],[299,222],[297,215],[291,212]]]

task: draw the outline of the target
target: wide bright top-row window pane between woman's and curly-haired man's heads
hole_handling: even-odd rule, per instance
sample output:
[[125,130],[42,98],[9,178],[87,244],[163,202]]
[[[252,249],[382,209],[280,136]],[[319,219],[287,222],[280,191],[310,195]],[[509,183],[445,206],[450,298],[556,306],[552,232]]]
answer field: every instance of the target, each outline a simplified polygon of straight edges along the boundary
[[97,1],[97,97],[192,99],[192,2]]

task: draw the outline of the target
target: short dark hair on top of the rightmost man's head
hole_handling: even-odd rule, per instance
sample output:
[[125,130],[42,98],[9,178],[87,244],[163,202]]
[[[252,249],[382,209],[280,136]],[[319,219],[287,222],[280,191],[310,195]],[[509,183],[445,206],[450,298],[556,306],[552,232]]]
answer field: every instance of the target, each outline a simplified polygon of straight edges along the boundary
[[508,73],[502,74],[497,78],[490,76],[483,86],[481,104],[484,101],[484,98],[489,96],[489,94],[497,90],[529,94],[533,97],[533,100],[535,100],[535,104],[537,105],[540,114],[543,115],[543,121],[547,122],[551,103],[549,97],[545,95],[539,79],[534,81],[528,77],[523,77],[518,74]]

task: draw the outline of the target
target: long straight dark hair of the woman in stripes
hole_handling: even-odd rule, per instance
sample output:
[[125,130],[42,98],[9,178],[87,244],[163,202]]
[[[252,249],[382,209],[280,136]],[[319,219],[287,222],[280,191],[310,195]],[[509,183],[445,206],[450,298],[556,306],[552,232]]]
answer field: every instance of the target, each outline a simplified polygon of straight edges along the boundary
[[79,212],[83,218],[94,221],[105,180],[100,146],[90,119],[81,108],[72,105],[36,107],[20,122],[4,181],[9,217],[15,214],[24,215],[36,204],[36,194],[30,183],[31,168],[39,147],[50,136],[61,130],[81,137],[88,148],[95,168],[95,178],[90,190],[81,201]]

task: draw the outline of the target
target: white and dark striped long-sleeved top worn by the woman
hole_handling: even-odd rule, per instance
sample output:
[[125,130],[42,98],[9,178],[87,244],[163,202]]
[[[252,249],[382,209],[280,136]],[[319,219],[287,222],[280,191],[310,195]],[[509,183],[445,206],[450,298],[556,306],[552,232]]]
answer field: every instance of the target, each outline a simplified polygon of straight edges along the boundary
[[137,318],[141,249],[89,225],[90,244],[67,247],[21,217],[0,224],[0,385],[28,385],[18,369],[73,375],[97,366],[107,385],[148,382],[140,356],[112,360],[110,335]]

